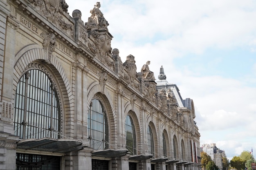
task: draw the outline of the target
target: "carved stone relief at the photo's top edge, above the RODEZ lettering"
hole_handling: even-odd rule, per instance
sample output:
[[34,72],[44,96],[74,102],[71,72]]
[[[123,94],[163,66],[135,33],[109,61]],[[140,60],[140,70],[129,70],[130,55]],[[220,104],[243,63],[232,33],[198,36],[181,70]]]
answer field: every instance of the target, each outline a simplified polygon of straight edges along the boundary
[[67,13],[68,5],[65,0],[29,0],[32,7],[41,14],[45,15],[52,24],[60,27],[71,36],[74,35],[74,25],[67,24],[63,20],[63,13]]

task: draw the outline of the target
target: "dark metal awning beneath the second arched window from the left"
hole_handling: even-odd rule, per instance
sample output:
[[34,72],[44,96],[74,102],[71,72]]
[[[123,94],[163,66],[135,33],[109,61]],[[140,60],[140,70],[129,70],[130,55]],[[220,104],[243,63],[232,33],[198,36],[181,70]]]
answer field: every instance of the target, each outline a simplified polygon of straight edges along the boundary
[[121,157],[126,155],[128,150],[113,150],[113,149],[106,149],[106,150],[95,150],[92,152],[92,157],[104,157],[104,158],[113,158],[113,157]]

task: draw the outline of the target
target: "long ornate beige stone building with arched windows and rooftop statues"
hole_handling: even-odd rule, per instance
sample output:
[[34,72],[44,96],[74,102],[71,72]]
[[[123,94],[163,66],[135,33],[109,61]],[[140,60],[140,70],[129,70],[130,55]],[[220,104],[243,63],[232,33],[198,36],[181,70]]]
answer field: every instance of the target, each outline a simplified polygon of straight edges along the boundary
[[0,1],[0,169],[198,170],[193,101],[123,63],[99,8]]

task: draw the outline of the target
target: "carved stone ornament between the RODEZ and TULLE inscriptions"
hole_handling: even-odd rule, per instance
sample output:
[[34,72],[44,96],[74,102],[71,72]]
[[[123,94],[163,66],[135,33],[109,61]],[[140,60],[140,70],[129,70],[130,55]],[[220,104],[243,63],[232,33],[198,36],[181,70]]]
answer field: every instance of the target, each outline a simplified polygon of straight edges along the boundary
[[51,64],[51,60],[52,60],[52,53],[55,50],[55,46],[56,46],[56,39],[55,39],[55,35],[53,33],[41,33],[40,34],[44,40],[43,40],[43,49],[45,50],[45,53],[48,54],[48,58],[46,59],[46,62],[48,64]]

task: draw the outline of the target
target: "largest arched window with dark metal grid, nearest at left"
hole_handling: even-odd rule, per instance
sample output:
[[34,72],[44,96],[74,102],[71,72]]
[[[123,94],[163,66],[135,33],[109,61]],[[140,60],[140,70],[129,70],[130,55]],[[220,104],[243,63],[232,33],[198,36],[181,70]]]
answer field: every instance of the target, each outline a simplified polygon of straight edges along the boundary
[[14,135],[22,139],[59,138],[60,104],[52,79],[38,69],[18,82],[14,109]]

